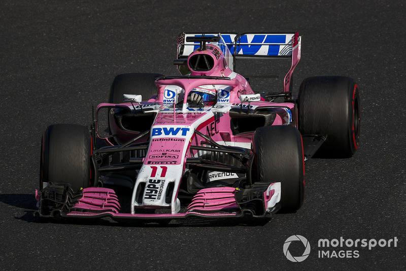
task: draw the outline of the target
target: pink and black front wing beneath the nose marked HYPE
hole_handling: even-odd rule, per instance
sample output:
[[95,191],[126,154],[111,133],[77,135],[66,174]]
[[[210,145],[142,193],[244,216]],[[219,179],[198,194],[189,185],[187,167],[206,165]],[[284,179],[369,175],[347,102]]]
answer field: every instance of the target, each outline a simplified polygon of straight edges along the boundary
[[40,192],[40,217],[112,219],[182,219],[188,217],[265,217],[280,209],[281,183],[255,183],[246,189],[214,187],[199,190],[183,213],[120,213],[119,199],[113,189],[89,187],[74,192],[69,184],[50,184]]

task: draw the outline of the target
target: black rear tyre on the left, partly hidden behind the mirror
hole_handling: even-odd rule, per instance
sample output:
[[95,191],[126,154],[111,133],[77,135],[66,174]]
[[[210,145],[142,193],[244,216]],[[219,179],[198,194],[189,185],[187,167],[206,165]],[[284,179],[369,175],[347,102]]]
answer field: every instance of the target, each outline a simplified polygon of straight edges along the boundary
[[110,88],[109,103],[123,103],[123,94],[139,94],[143,100],[148,100],[157,93],[155,79],[162,76],[148,73],[117,75]]

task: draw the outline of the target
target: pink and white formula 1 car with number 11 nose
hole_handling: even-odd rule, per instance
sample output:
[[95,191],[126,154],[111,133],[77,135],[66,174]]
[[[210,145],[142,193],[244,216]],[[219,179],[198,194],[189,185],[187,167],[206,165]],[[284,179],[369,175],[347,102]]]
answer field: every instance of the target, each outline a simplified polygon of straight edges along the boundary
[[[304,197],[304,161],[351,157],[360,139],[353,79],[307,78],[292,95],[300,42],[297,32],[183,32],[174,61],[181,76],[116,76],[109,103],[97,106],[89,128],[56,124],[45,130],[36,191],[40,217],[168,220],[296,212]],[[251,89],[234,72],[236,59],[246,57],[291,58],[283,91]],[[106,143],[98,147],[100,139]],[[126,206],[116,187],[132,191]]]

